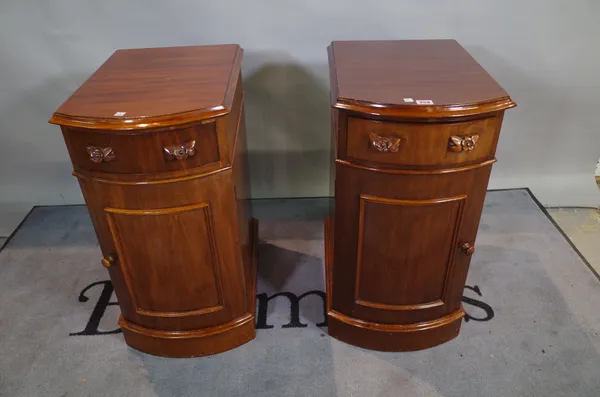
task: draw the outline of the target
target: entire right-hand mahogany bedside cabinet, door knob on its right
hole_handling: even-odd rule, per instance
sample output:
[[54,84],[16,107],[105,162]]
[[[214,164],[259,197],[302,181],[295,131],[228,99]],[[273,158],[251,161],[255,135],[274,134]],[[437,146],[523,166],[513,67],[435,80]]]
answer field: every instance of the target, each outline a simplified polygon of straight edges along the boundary
[[454,40],[333,42],[329,334],[424,349],[458,335],[508,94]]

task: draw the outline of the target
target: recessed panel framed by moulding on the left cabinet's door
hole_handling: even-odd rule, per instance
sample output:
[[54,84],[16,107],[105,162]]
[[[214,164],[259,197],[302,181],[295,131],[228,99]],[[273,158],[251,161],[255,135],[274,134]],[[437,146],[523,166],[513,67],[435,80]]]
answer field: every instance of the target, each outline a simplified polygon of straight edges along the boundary
[[138,314],[181,317],[224,308],[208,203],[105,211]]

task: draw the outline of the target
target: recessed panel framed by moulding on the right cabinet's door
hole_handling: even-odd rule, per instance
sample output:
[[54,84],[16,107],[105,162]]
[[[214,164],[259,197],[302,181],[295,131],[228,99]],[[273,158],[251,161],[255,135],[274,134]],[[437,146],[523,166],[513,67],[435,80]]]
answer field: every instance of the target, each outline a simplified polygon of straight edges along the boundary
[[443,306],[466,196],[360,196],[355,303],[382,310]]

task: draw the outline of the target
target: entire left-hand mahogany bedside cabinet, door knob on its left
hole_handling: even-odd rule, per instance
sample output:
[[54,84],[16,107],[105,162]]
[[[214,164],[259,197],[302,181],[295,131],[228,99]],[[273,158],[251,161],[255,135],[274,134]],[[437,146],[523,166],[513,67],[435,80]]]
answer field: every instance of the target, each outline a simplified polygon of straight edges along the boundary
[[202,356],[255,336],[242,52],[116,51],[50,120],[90,211],[125,341],[146,353]]

